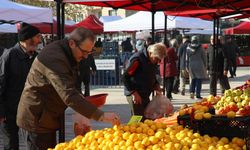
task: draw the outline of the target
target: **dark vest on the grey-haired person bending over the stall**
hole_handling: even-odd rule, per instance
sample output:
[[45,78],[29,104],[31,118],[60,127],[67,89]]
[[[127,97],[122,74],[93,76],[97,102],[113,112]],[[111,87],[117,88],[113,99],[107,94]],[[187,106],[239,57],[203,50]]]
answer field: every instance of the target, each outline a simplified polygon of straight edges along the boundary
[[129,96],[131,92],[137,91],[141,97],[149,97],[158,84],[156,80],[157,65],[150,62],[146,49],[136,52],[131,56],[128,68],[130,68],[135,61],[139,62],[139,66],[134,74],[130,75],[127,69],[123,75],[125,95]]

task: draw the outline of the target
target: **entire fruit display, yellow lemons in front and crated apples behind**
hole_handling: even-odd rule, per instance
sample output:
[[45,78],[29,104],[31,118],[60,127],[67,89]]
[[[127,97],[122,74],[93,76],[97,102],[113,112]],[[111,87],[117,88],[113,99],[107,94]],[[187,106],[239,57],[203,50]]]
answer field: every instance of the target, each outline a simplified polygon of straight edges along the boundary
[[247,150],[249,107],[247,82],[185,105],[172,117],[92,130],[49,150]]

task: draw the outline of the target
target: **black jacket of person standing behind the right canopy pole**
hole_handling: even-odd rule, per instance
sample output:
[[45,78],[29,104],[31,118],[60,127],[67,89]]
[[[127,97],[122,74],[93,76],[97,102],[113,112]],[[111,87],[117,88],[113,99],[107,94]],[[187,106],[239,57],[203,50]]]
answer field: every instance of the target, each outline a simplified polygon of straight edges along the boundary
[[209,73],[222,74],[223,71],[228,71],[228,56],[224,46],[218,45],[217,53],[214,51],[213,45],[209,44],[207,49],[207,69]]

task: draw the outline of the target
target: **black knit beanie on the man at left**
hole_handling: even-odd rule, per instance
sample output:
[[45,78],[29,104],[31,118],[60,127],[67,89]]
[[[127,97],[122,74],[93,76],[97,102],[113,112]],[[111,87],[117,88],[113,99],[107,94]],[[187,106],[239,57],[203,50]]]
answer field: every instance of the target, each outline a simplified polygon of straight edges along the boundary
[[34,37],[38,33],[40,33],[40,31],[37,27],[24,22],[21,24],[20,30],[18,32],[18,39],[19,41],[25,41]]

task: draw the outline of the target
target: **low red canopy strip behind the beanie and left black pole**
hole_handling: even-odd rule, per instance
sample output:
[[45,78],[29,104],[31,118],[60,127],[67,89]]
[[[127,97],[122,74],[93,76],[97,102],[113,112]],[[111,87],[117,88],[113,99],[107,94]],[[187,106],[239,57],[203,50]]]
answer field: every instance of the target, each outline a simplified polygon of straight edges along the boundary
[[[33,23],[33,26],[39,28],[41,33],[44,34],[51,34],[51,28],[52,28],[52,24],[49,23]],[[64,25],[64,33],[70,33],[71,31],[73,31],[76,27],[71,26],[71,25]],[[19,29],[19,27],[18,27]],[[53,20],[53,33],[57,33],[57,21]]]

